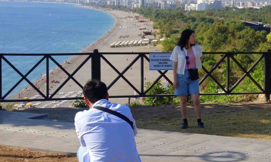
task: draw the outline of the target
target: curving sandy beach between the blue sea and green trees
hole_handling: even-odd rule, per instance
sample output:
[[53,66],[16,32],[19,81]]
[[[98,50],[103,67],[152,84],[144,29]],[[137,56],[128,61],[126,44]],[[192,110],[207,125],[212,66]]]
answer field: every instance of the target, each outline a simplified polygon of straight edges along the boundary
[[[83,6],[82,6],[83,7]],[[84,6],[86,8],[91,8]],[[139,34],[142,34],[143,31],[154,31],[152,28],[152,22],[148,21],[147,19],[144,19],[144,17],[140,16],[139,20],[146,20],[146,22],[139,23],[138,20],[135,18],[120,18],[120,17],[135,17],[137,14],[131,14],[126,13],[123,11],[102,11],[101,12],[107,12],[114,16],[115,23],[112,26],[111,30],[109,30],[107,33],[105,33],[103,36],[101,36],[99,39],[97,39],[94,43],[86,47],[81,51],[81,53],[88,53],[93,52],[94,49],[98,49],[99,52],[161,52],[161,50],[154,50],[154,47],[151,45],[150,48],[148,48],[147,45],[142,46],[132,46],[132,47],[119,47],[119,48],[111,48],[111,43],[115,41],[131,41],[131,40],[141,40],[141,36]],[[136,23],[135,23],[136,22]],[[132,27],[130,27],[132,26]],[[146,30],[139,30],[139,27],[144,26],[146,27]],[[122,35],[126,35],[125,38],[119,38]],[[128,37],[127,37],[128,36]],[[152,35],[146,36],[148,39],[154,39]],[[118,71],[122,72],[127,65],[129,65],[134,58],[136,58],[137,55],[104,55],[104,57],[113,64]],[[148,55],[147,55],[148,56]],[[69,57],[69,56],[68,56]],[[67,59],[64,63],[59,63],[62,65],[62,67],[67,70],[69,73],[72,73],[79,64],[81,64],[87,55],[76,55],[72,58]],[[141,68],[140,68],[140,59],[124,74],[126,79],[129,80],[139,91],[140,91],[140,75],[141,75]],[[157,71],[151,71],[149,70],[149,62],[144,59],[144,82],[152,82],[154,81],[160,73]],[[172,71],[169,71],[167,74],[167,77],[170,79],[173,79]],[[118,76],[118,74],[103,60],[101,59],[101,81],[103,81],[107,86]],[[88,79],[91,78],[91,60],[87,61],[86,64],[74,75],[74,78],[82,85],[86,83]],[[41,92],[46,94],[45,83],[46,76],[40,77],[36,82],[34,82],[34,85],[36,84],[36,87],[38,87]],[[67,75],[59,68],[56,67],[55,69],[50,71],[49,74],[49,87],[50,87],[50,94],[52,94],[60,85],[62,82],[67,79]],[[165,79],[162,77],[162,81]],[[60,83],[52,83],[52,81],[59,81]],[[72,97],[72,96],[81,96],[82,89],[73,82],[72,79],[70,79],[64,87],[54,96],[54,98],[59,97]],[[60,93],[61,92],[61,93]],[[108,93],[110,96],[112,95],[137,95],[135,91],[132,89],[131,86],[128,85],[122,78],[120,78],[109,90]],[[18,95],[22,94],[22,95]],[[33,87],[27,86],[26,89],[23,89],[20,91],[17,95],[14,95],[11,99],[18,99],[20,98],[41,98],[39,96],[39,93],[36,92]],[[121,104],[128,103],[128,98],[110,98],[111,102],[117,102]],[[134,99],[131,99],[131,102],[134,102]],[[142,100],[140,99],[140,102],[142,103]],[[36,107],[72,107],[72,103],[70,101],[56,101],[55,103],[52,103],[52,101],[45,101],[45,102],[33,102],[33,104],[41,103],[36,105]],[[52,103],[52,104],[50,104]],[[60,103],[60,104],[59,104]],[[13,103],[17,104],[17,103]],[[18,103],[21,104],[21,103]],[[47,104],[47,105],[46,105]],[[5,106],[5,104],[3,104]],[[55,106],[57,105],[57,106]],[[27,107],[27,106],[25,106]],[[16,108],[16,107],[14,107]]]

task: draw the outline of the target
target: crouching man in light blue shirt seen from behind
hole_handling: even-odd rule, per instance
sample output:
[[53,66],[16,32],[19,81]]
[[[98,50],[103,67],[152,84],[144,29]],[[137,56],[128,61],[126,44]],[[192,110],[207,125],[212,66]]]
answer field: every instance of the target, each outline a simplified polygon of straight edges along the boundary
[[74,118],[81,143],[77,152],[79,162],[141,162],[130,108],[108,101],[107,86],[101,81],[87,81],[83,94],[89,110],[76,113]]

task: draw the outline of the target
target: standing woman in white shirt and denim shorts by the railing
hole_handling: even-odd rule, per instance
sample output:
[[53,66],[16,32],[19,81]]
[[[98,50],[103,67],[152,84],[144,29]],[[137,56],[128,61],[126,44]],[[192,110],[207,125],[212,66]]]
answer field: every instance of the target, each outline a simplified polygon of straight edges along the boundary
[[174,95],[180,96],[180,107],[183,117],[181,129],[188,128],[187,96],[191,95],[198,127],[204,128],[201,122],[201,104],[199,102],[198,70],[203,59],[202,48],[195,45],[195,32],[186,29],[182,32],[177,46],[173,49],[170,60],[173,61]]

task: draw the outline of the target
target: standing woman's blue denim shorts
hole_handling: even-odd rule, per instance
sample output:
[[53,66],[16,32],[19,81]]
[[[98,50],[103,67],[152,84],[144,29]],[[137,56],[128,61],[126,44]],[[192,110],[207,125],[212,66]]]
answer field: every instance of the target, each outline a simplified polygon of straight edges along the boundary
[[184,74],[177,74],[178,87],[174,89],[174,95],[187,96],[199,94],[199,81],[191,80],[188,70]]

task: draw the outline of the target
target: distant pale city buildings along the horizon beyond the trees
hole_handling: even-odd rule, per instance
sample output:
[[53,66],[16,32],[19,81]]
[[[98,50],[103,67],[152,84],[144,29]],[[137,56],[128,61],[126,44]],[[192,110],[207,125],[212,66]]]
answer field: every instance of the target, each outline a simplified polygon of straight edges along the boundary
[[[47,0],[40,0],[47,1]],[[91,4],[97,3],[102,5],[121,5],[127,8],[161,8],[175,10],[178,8],[187,11],[197,10],[204,11],[207,9],[219,10],[223,7],[236,8],[261,8],[271,5],[271,0],[50,0],[65,3]]]

